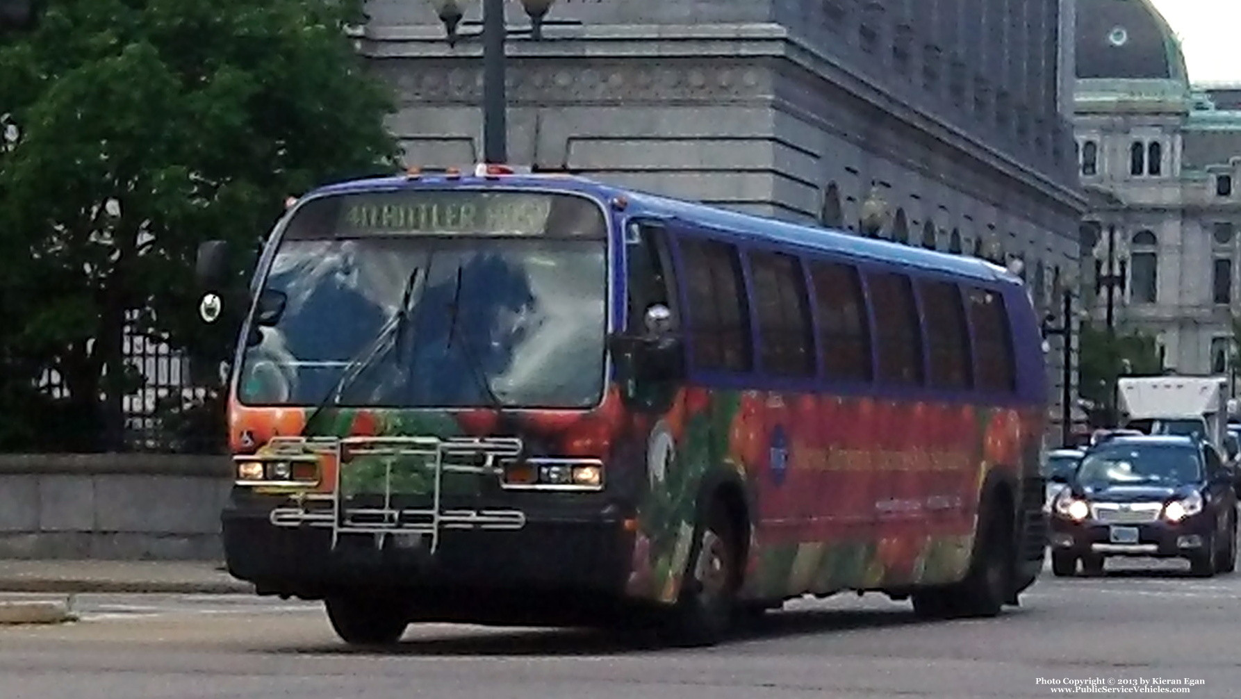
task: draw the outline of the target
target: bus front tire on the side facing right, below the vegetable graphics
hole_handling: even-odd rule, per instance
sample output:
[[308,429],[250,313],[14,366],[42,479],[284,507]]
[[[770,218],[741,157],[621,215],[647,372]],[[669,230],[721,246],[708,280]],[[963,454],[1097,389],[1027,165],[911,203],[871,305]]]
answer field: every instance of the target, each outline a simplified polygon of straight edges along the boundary
[[696,543],[686,564],[681,596],[666,628],[680,647],[714,646],[737,617],[741,580],[738,535],[722,500],[715,500],[695,528]]

